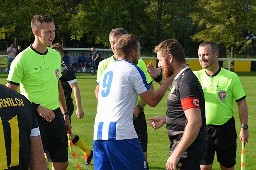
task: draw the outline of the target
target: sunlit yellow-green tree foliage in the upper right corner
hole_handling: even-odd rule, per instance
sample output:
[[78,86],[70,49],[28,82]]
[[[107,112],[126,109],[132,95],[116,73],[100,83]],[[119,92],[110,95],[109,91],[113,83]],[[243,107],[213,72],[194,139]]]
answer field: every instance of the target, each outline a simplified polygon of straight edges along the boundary
[[206,28],[194,34],[195,41],[215,41],[229,48],[246,43],[255,33],[254,0],[198,0],[191,16]]

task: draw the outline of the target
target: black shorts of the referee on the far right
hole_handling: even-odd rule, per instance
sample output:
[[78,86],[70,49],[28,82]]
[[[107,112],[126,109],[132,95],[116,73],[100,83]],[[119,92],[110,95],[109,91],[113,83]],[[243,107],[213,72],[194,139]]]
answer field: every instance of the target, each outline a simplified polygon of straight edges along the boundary
[[235,165],[236,156],[236,131],[235,119],[230,118],[223,125],[206,125],[207,129],[207,156],[202,159],[201,165],[213,163],[214,154],[217,154],[218,162],[226,168]]

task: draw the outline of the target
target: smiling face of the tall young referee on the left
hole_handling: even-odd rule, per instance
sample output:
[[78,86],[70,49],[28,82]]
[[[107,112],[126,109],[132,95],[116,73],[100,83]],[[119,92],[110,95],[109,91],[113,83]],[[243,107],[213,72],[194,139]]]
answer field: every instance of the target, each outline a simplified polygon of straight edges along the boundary
[[55,37],[55,25],[53,22],[42,23],[42,28],[37,29],[38,40],[44,46],[51,46]]

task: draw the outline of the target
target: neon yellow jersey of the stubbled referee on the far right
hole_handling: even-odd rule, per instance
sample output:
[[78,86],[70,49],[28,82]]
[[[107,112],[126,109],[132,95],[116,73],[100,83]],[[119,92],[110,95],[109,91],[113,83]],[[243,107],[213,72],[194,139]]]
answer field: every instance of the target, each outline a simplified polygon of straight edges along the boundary
[[203,88],[206,125],[223,125],[234,114],[233,99],[238,102],[246,97],[238,75],[224,68],[213,76],[205,69],[193,73]]

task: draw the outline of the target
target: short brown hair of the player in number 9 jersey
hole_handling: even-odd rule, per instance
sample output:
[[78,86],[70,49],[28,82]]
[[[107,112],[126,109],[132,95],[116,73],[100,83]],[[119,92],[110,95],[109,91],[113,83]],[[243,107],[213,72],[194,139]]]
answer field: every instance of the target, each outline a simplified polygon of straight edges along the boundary
[[115,43],[116,54],[119,57],[128,57],[129,53],[132,50],[137,51],[137,43],[140,41],[140,38],[136,35],[123,34],[118,41]]

